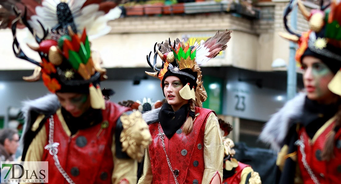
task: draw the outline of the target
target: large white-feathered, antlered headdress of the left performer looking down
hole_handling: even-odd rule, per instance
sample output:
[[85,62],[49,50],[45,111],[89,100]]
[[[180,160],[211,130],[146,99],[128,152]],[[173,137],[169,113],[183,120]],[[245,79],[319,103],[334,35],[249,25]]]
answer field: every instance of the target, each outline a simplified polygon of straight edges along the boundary
[[[51,93],[90,94],[91,106],[104,109],[99,83],[107,78],[106,70],[100,67],[99,55],[91,51],[89,35],[106,33],[95,30],[113,18],[105,17],[105,12],[113,13],[111,9],[116,4],[108,2],[111,5],[107,4],[105,9],[101,7],[101,3],[102,1],[43,0],[35,7],[36,15],[30,16],[30,19],[27,16],[27,7],[23,12],[14,6],[16,18],[12,23],[13,51],[16,57],[38,66],[33,75],[24,77],[24,80],[34,82],[41,77]],[[102,24],[95,24],[97,19],[101,19]],[[21,50],[16,37],[19,22],[34,36],[38,46],[29,47],[39,53],[41,62],[32,60]],[[92,34],[88,34],[87,28]]]

